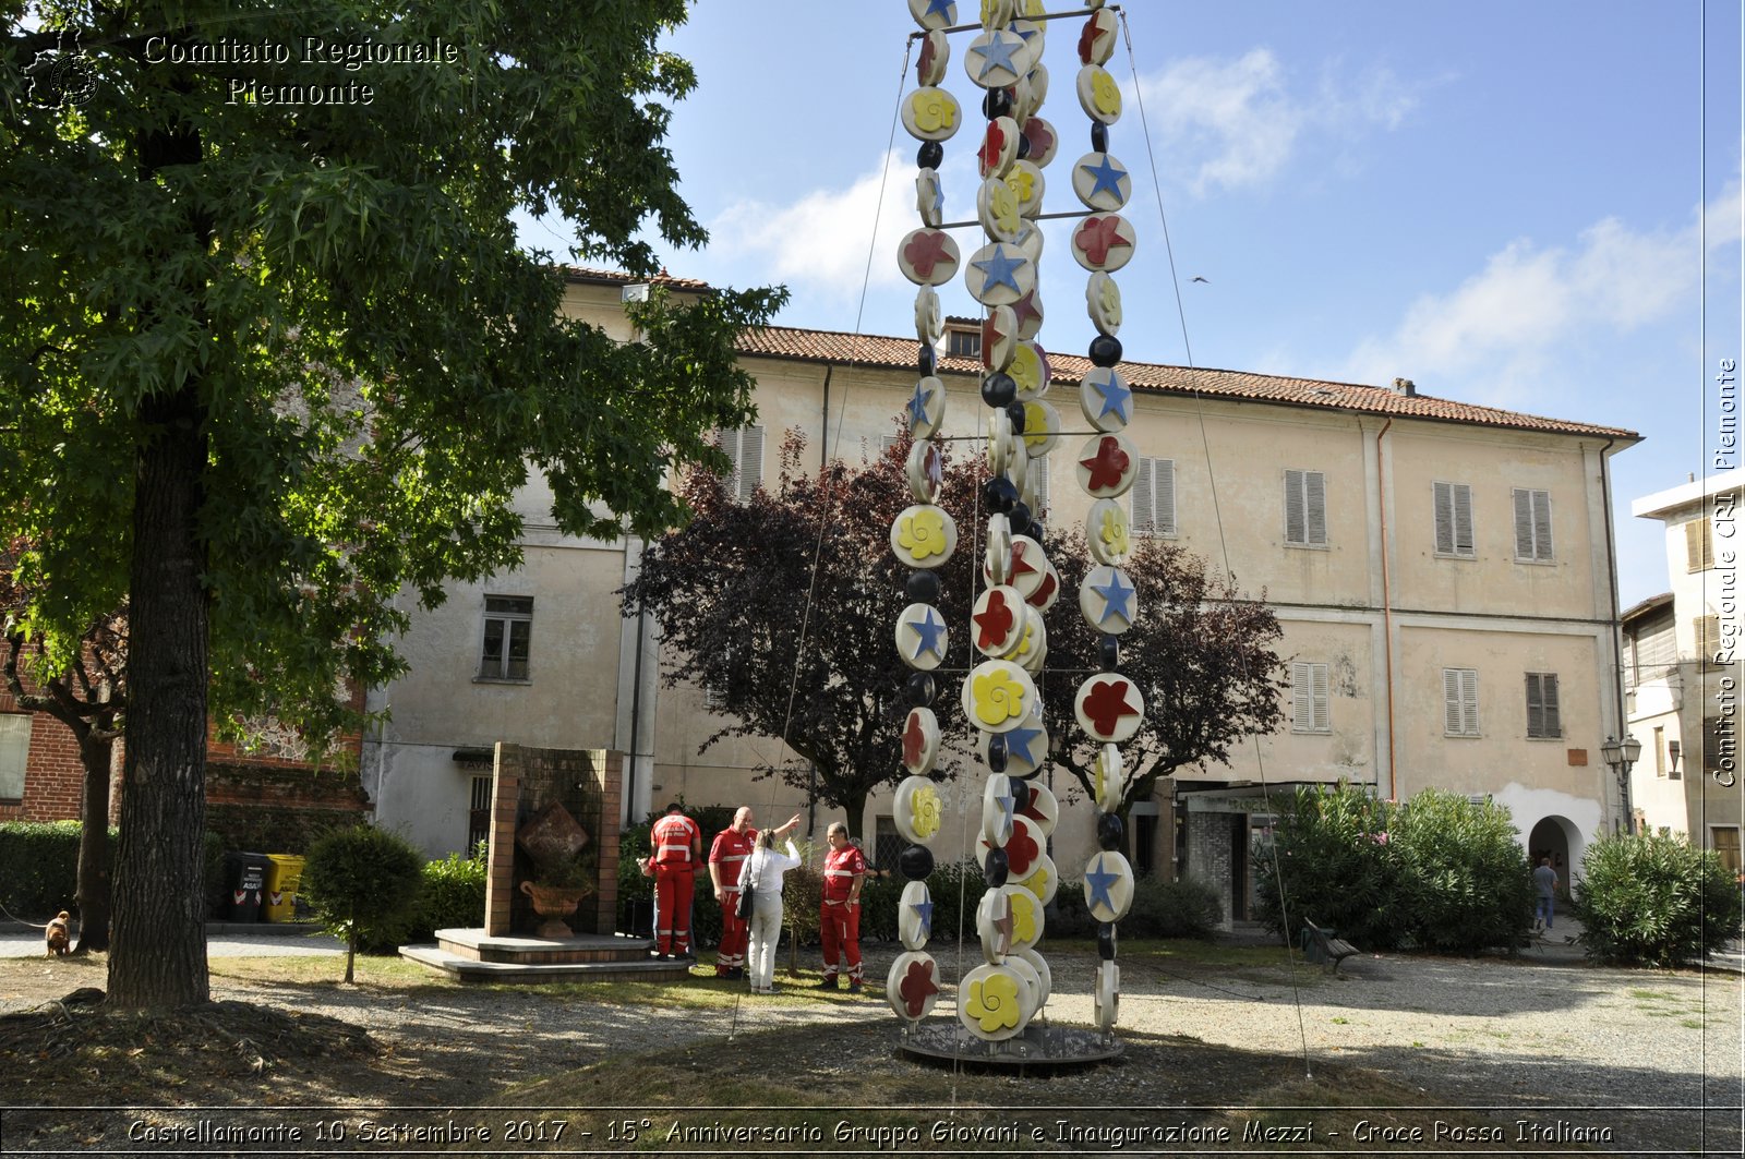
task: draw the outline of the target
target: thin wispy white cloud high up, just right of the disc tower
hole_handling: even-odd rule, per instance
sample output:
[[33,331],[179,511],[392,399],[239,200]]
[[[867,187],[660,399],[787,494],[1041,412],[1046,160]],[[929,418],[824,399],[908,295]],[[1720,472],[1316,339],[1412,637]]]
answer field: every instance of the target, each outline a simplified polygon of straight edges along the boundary
[[1297,93],[1272,49],[1181,59],[1139,86],[1167,164],[1192,175],[1195,195],[1265,183],[1305,140],[1394,129],[1417,105],[1389,70],[1351,75],[1337,61],[1312,93]]

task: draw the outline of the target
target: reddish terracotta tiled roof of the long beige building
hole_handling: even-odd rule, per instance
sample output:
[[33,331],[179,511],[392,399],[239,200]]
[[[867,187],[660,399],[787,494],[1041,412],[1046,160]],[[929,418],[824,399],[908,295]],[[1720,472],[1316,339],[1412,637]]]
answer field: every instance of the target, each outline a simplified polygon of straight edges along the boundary
[[[743,354],[761,358],[796,358],[853,367],[886,367],[907,370],[920,356],[916,339],[883,335],[839,333],[834,330],[801,330],[796,326],[764,326],[749,330],[740,339]],[[1050,381],[1077,384],[1091,370],[1091,360],[1078,354],[1049,354]],[[981,374],[977,358],[941,356],[939,368],[955,374]],[[1120,363],[1127,384],[1141,393],[1228,398],[1317,410],[1345,410],[1387,415],[1394,419],[1429,419],[1434,422],[1461,422],[1515,431],[1541,431],[1546,435],[1586,435],[1640,442],[1642,436],[1616,426],[1546,419],[1495,407],[1476,407],[1429,394],[1403,394],[1386,386],[1356,382],[1324,382],[1284,375],[1253,374],[1246,370],[1215,370],[1209,367],[1169,367],[1157,363]]]

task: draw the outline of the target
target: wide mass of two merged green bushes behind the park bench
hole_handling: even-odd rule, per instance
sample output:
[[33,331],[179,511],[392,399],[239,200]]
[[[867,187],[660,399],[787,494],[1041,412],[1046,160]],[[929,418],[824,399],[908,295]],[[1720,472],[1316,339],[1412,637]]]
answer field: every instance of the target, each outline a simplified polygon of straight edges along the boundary
[[1365,950],[1475,953],[1516,946],[1532,913],[1508,810],[1438,789],[1405,806],[1347,784],[1298,789],[1255,876],[1262,922],[1291,941],[1314,918]]

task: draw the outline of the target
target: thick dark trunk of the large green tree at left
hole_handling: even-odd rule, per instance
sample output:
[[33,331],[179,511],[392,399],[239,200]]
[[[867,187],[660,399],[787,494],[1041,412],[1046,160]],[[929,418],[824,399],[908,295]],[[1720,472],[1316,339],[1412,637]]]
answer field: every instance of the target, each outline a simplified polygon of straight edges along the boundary
[[108,1000],[211,1000],[206,976],[208,593],[197,518],[206,436],[197,387],[140,408],[133,501],[131,702]]

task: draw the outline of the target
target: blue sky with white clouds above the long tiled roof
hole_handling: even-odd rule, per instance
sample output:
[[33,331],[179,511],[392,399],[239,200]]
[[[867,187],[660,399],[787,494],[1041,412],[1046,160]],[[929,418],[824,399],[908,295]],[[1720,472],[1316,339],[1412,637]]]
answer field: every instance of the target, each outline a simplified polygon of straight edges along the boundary
[[[1061,136],[1045,211],[1078,208],[1091,150],[1075,0],[1049,31]],[[1742,358],[1740,5],[1728,0],[1133,0],[1110,152],[1138,232],[1115,278],[1134,361],[1419,391],[1637,431],[1612,459],[1619,607],[1668,588],[1661,525],[1630,501],[1701,477],[1719,360]],[[963,23],[979,3],[958,3]],[[668,47],[698,72],[674,117],[710,230],[675,276],[782,283],[784,325],[913,333],[895,253],[916,145],[904,0],[700,0]],[[946,141],[948,220],[974,218],[981,91]],[[1153,178],[1155,173],[1155,178]],[[878,232],[874,237],[874,222]],[[1047,229],[1049,349],[1092,337],[1070,222]],[[1167,237],[1167,243],[1166,243]],[[530,227],[529,244],[564,251]],[[970,241],[965,234],[963,241]],[[965,246],[965,257],[974,246]],[[1190,281],[1204,278],[1204,281]],[[961,278],[946,312],[979,314]]]

